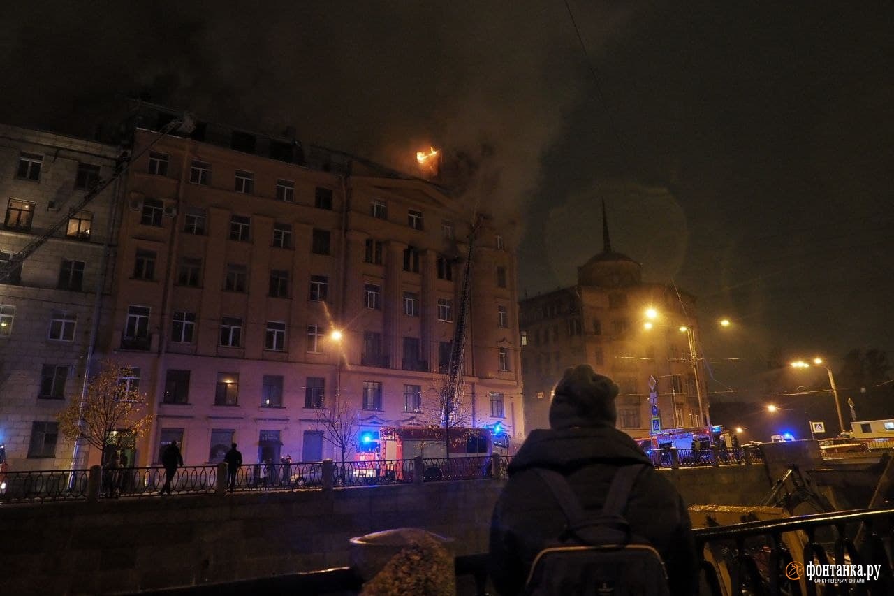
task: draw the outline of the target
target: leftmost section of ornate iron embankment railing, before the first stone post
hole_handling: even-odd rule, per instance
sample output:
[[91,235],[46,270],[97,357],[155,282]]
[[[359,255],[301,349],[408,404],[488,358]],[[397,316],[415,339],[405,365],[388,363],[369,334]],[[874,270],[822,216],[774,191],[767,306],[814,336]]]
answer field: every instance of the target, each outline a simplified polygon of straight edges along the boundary
[[86,499],[89,470],[8,472],[0,476],[0,502]]

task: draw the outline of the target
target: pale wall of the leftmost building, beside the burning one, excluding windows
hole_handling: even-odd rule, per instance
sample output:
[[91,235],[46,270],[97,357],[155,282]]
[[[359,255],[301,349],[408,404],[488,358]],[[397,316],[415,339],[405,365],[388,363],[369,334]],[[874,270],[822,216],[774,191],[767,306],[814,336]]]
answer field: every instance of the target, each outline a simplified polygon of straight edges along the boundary
[[[40,163],[35,179],[27,173],[20,176],[21,158],[29,155],[37,156]],[[116,149],[97,142],[0,125],[0,200],[5,214],[0,251],[6,255],[21,251],[48,227],[67,220],[69,210],[86,193],[76,187],[79,165],[98,166],[97,175],[105,179],[113,174],[116,155]],[[104,243],[113,233],[118,195],[118,183],[113,183],[84,209],[92,217],[89,226],[85,221],[81,228],[89,229],[89,237],[78,237],[76,228],[66,221],[25,260],[21,283],[0,281],[4,316],[0,327],[0,444],[5,445],[13,470],[72,464],[72,446],[63,444],[55,416],[69,400],[80,399],[91,328],[105,320],[104,311],[95,311],[95,307],[97,297],[108,291],[99,285],[106,263],[111,262],[104,260],[104,253],[112,257]],[[30,227],[14,225],[10,209],[14,200],[30,203]],[[60,289],[63,260],[83,266],[80,287]],[[63,317],[68,318],[64,332],[63,323],[52,327],[53,319]],[[51,328],[57,331],[53,334],[56,338],[51,336]],[[51,377],[55,381],[42,387],[46,366],[58,368]],[[35,423],[43,428],[36,430]]]

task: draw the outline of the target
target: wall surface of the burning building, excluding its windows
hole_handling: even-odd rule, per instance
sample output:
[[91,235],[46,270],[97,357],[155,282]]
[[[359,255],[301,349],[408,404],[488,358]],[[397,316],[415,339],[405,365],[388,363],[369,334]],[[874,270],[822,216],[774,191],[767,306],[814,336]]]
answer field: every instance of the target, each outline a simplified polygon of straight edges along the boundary
[[[155,138],[155,132],[139,130],[134,153]],[[153,152],[167,156],[166,171],[164,175],[150,173],[157,164],[157,160],[150,163],[150,155],[132,167],[122,217],[121,259],[115,273],[113,330],[105,338],[106,349],[116,359],[139,368],[140,388],[155,409],[154,428],[139,444],[139,463],[157,461],[160,441],[180,436],[180,432],[187,463],[207,462],[214,457],[213,436],[217,443],[229,443],[223,441],[221,432],[213,435],[213,430],[232,431],[246,461],[257,461],[260,456],[262,431],[265,438],[279,433],[282,445],[274,446],[274,456],[275,447],[279,447],[280,456],[307,459],[311,456],[305,453],[306,438],[319,441],[314,433],[322,430],[320,410],[307,407],[312,378],[325,379],[327,403],[338,396],[342,403],[358,409],[361,430],[430,422],[425,411],[405,411],[405,386],[421,387],[425,406],[443,380],[438,343],[453,336],[465,255],[462,241],[471,229],[471,217],[463,204],[419,180],[337,175],[196,140],[168,137],[160,140]],[[210,166],[207,184],[190,182],[194,160]],[[252,192],[234,191],[237,171],[254,176]],[[294,184],[293,200],[277,200],[279,180]],[[331,192],[331,209],[316,206],[317,189]],[[384,204],[384,218],[373,217],[373,201]],[[162,217],[153,219],[153,204],[162,206]],[[410,209],[422,212],[421,229],[409,226]],[[187,231],[188,218],[198,213],[206,217],[204,234]],[[234,216],[250,218],[248,241],[231,239]],[[453,223],[454,240],[444,237],[445,221]],[[289,248],[272,245],[277,225],[291,226]],[[329,234],[329,254],[312,251],[315,230]],[[514,254],[508,247],[498,251],[494,234],[493,226],[488,228],[487,240],[476,252],[482,265],[479,268],[476,263],[473,275],[468,327],[464,377],[468,423],[484,426],[502,421],[523,436],[518,353],[514,349],[517,319],[510,315],[507,327],[499,328],[498,339],[493,306],[494,302],[509,306],[514,302]],[[366,262],[367,241],[381,243],[381,262],[375,258]],[[409,248],[418,253],[418,271],[412,264],[405,270],[404,253]],[[137,278],[145,271],[138,264],[138,251],[154,253],[151,280]],[[452,280],[437,277],[439,256],[450,258]],[[181,283],[185,259],[200,263],[196,286]],[[507,268],[512,280],[506,288],[496,287],[497,263]],[[228,265],[244,268],[244,291],[227,289]],[[288,289],[283,297],[269,295],[272,270],[287,272]],[[310,299],[312,276],[327,278],[325,301]],[[367,285],[380,290],[378,308],[367,308]],[[418,294],[417,316],[404,313],[403,297],[408,292]],[[452,301],[451,321],[438,320],[438,298]],[[137,342],[128,339],[131,307],[149,309],[146,337]],[[175,313],[184,312],[194,315],[194,334],[190,341],[176,341]],[[239,347],[221,345],[224,317],[241,320]],[[267,349],[268,321],[285,325],[282,350]],[[338,343],[322,338],[319,349],[311,352],[308,326],[317,326],[321,333],[341,329],[343,338]],[[364,353],[365,332],[380,334],[381,357],[373,359]],[[405,337],[418,339],[417,359],[403,353]],[[500,341],[500,346],[513,348],[509,370],[498,370]],[[165,397],[172,370],[189,371],[185,403],[171,403],[170,394]],[[236,381],[237,375],[236,404],[215,404],[219,379]],[[262,386],[270,376],[282,378],[282,404],[276,406],[264,403]],[[381,404],[363,407],[365,383],[381,383]],[[502,417],[490,415],[492,392],[503,394]],[[322,455],[335,455],[326,441]]]

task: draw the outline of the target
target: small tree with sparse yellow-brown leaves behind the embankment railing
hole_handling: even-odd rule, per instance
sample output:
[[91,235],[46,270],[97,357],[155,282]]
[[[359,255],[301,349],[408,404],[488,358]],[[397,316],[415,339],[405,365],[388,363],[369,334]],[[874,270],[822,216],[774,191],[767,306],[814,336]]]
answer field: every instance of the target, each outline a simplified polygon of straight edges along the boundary
[[72,398],[57,415],[63,437],[97,447],[101,463],[105,463],[106,447],[115,442],[119,431],[137,438],[152,423],[146,396],[122,382],[132,375],[133,370],[127,366],[103,362],[102,369],[90,379],[86,396]]

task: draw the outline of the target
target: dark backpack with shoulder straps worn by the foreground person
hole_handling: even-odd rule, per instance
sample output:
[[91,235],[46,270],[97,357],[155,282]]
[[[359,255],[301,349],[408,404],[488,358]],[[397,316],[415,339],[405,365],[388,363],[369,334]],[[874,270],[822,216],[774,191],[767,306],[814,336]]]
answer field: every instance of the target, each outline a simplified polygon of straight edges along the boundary
[[[618,469],[601,512],[587,513],[561,473],[535,472],[552,490],[568,526],[541,550],[527,576],[526,594],[667,596],[667,573],[649,541],[630,532],[621,515],[645,464]],[[657,512],[656,512],[657,515]]]

